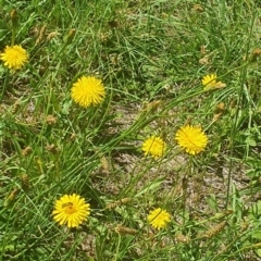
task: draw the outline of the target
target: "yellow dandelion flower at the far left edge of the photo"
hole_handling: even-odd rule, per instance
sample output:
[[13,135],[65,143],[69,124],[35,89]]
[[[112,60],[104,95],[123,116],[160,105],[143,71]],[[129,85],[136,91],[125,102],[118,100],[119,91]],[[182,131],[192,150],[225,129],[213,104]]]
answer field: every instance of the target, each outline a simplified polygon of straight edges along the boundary
[[20,70],[26,62],[28,62],[28,53],[21,46],[7,46],[4,51],[0,54],[0,60],[11,70]]

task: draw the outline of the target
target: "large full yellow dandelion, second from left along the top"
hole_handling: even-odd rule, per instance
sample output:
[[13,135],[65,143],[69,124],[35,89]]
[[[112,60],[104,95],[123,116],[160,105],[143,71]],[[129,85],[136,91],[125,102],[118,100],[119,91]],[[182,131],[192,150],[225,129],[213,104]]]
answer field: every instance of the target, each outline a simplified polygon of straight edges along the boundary
[[100,79],[83,76],[73,85],[71,96],[80,107],[87,108],[99,104],[105,96],[105,90]]

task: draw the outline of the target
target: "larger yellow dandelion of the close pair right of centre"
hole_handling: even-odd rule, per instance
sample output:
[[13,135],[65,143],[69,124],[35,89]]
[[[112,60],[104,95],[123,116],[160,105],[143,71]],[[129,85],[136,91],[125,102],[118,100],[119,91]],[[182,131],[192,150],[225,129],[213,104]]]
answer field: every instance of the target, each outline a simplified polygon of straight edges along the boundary
[[181,127],[176,133],[175,139],[179,147],[189,154],[198,154],[204,150],[208,144],[208,137],[199,126],[186,125]]

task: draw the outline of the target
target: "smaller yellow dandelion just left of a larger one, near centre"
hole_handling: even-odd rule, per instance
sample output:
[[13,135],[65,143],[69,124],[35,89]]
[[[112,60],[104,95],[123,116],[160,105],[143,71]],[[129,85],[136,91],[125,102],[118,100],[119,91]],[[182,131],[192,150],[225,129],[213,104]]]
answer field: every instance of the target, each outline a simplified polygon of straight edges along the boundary
[[166,144],[160,137],[151,136],[144,141],[141,149],[145,156],[151,154],[157,159],[165,152]]

